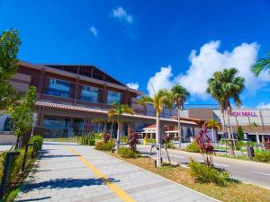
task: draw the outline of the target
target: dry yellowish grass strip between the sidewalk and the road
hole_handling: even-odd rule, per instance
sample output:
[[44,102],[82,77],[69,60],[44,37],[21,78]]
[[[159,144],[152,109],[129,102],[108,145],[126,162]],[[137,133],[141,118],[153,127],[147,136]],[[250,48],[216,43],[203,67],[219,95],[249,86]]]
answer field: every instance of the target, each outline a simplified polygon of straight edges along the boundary
[[270,190],[259,188],[254,185],[244,184],[240,182],[232,182],[228,187],[220,187],[213,183],[199,183],[193,179],[189,169],[180,166],[165,165],[159,169],[154,166],[154,160],[151,159],[148,164],[148,158],[139,157],[137,159],[121,158],[119,154],[111,154],[114,157],[120,158],[125,162],[137,165],[140,168],[152,171],[166,179],[173,180],[190,189],[199,191],[212,198],[217,198],[224,202],[236,201],[270,201]]

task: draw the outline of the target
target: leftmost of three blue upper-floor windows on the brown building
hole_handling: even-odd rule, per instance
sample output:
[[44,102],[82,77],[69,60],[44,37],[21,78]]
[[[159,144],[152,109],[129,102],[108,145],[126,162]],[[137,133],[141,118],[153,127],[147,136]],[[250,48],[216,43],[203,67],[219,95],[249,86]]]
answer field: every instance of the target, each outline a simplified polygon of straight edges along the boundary
[[58,97],[70,98],[71,97],[71,83],[57,80],[54,78],[49,79],[49,86],[47,94]]

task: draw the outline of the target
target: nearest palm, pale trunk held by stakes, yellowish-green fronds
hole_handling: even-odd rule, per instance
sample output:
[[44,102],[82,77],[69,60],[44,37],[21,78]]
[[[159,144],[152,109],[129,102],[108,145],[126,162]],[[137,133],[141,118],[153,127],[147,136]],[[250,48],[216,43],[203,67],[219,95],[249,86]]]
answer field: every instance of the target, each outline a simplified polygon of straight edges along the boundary
[[166,89],[160,89],[153,96],[145,95],[139,99],[140,104],[152,103],[156,110],[156,140],[157,140],[157,167],[161,167],[161,150],[160,150],[160,128],[159,128],[159,118],[160,112],[164,107],[172,108],[173,107],[173,96],[172,93]]

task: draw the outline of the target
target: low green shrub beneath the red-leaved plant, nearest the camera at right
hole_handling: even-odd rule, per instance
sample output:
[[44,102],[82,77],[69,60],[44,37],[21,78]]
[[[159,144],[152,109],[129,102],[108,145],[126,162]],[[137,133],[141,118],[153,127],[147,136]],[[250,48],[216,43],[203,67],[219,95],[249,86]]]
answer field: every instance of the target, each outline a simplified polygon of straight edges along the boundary
[[219,186],[229,185],[229,172],[215,169],[212,166],[207,166],[201,162],[194,162],[193,159],[189,162],[190,173],[195,178],[203,183],[215,183]]

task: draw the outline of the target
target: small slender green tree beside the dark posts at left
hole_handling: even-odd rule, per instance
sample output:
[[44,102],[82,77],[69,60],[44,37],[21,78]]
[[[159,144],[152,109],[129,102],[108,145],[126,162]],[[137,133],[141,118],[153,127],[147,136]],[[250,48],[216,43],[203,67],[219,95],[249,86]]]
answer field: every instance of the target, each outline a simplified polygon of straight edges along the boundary
[[17,136],[15,148],[18,148],[19,138],[32,127],[36,92],[36,88],[31,86],[23,99],[8,109],[11,114],[14,135]]

